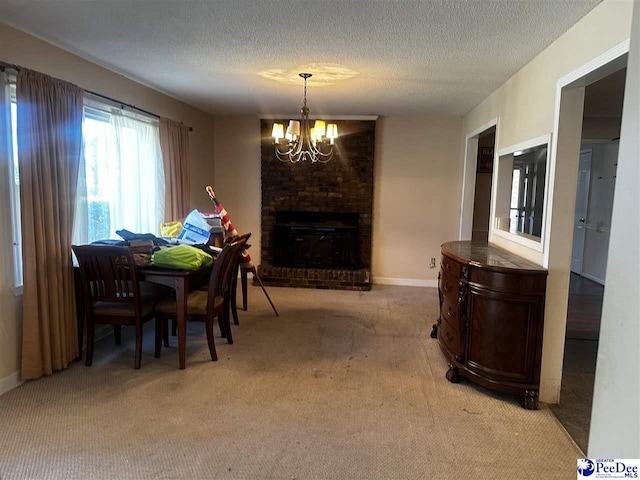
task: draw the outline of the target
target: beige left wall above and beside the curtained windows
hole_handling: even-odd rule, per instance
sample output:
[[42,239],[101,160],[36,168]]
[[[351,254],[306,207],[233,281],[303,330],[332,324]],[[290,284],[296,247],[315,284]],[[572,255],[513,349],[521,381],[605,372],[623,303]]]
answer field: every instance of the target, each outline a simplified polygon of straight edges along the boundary
[[[195,187],[213,182],[211,115],[2,23],[0,45],[0,60],[4,62],[46,73],[191,126],[191,199],[192,203],[199,202],[198,206],[207,206],[208,198],[201,198],[199,189]],[[0,207],[0,230],[11,231],[11,214],[6,201]],[[11,251],[10,235],[0,235],[0,252],[3,252],[0,261],[0,394],[14,387],[20,378],[22,299],[14,297],[11,288],[13,266],[8,258]]]

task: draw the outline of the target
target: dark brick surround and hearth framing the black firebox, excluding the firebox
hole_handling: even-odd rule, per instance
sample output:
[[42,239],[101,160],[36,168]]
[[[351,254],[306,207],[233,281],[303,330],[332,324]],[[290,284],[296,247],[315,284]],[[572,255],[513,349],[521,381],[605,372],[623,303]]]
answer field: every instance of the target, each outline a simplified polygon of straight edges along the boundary
[[[327,120],[331,120],[327,118]],[[375,125],[373,120],[336,121],[340,138],[334,157],[326,164],[280,162],[274,154],[271,127],[262,120],[262,263],[258,273],[273,286],[370,290],[371,235],[373,212],[373,159]],[[358,269],[289,268],[274,263],[276,212],[357,213]]]

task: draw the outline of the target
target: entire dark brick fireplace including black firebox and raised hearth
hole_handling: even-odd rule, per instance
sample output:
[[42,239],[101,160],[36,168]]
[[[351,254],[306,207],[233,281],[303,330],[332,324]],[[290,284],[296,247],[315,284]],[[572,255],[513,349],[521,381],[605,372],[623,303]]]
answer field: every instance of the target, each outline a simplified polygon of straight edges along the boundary
[[371,289],[375,120],[337,121],[340,138],[325,164],[280,162],[261,120],[263,283]]

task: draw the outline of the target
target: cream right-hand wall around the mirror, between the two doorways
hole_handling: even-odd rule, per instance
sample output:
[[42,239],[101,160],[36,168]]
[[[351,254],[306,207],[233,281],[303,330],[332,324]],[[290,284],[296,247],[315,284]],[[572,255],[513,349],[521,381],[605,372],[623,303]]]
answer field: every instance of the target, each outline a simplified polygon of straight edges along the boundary
[[[464,118],[463,135],[498,117],[497,149],[515,145],[554,130],[556,84],[559,79],[629,38],[631,0],[605,0],[558,40],[529,62],[502,87]],[[582,90],[582,92],[580,91]],[[580,108],[584,89],[565,95],[566,108]],[[573,97],[573,98],[569,98]],[[580,115],[581,118],[581,115]],[[573,237],[573,210],[577,182],[580,129],[564,125],[565,134],[576,136],[574,149],[557,155],[552,198],[549,278],[545,309],[540,399],[557,403],[564,357],[564,331],[569,288],[569,266]],[[573,151],[575,150],[575,152]],[[575,156],[575,158],[574,158]],[[544,254],[502,238],[495,243],[540,265]]]

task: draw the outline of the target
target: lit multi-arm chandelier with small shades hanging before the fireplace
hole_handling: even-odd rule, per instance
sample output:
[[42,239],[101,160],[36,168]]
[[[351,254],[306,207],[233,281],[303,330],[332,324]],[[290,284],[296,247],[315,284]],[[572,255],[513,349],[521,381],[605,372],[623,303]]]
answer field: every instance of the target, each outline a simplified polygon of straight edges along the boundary
[[333,145],[338,138],[338,126],[335,123],[326,125],[323,120],[316,120],[313,127],[309,121],[307,107],[307,79],[310,73],[300,73],[304,78],[304,103],[300,109],[300,120],[290,120],[287,131],[282,123],[274,123],[273,136],[276,157],[281,162],[298,163],[300,160],[311,163],[327,163],[333,157]]

